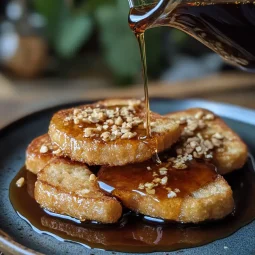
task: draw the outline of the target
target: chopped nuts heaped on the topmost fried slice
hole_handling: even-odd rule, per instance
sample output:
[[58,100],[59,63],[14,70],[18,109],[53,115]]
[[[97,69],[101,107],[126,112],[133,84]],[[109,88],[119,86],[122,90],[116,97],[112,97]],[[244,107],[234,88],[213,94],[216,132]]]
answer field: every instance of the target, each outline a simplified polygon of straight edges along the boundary
[[68,125],[71,121],[75,125],[95,124],[95,128],[84,128],[85,138],[100,137],[104,141],[114,141],[118,137],[131,139],[137,136],[133,128],[143,123],[143,120],[135,115],[139,105],[141,105],[140,100],[130,100],[127,106],[112,109],[102,108],[100,105],[96,105],[95,108],[90,106],[75,108],[72,114],[65,117],[64,125]]

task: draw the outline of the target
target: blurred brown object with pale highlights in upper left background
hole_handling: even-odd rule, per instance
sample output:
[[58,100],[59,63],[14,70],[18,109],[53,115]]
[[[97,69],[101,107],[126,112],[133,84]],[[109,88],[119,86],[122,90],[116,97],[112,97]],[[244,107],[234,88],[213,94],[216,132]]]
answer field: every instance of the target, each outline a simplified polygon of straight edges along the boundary
[[1,65],[19,77],[40,75],[48,55],[47,43],[42,36],[44,26],[42,16],[27,10],[27,1],[9,1],[0,24]]

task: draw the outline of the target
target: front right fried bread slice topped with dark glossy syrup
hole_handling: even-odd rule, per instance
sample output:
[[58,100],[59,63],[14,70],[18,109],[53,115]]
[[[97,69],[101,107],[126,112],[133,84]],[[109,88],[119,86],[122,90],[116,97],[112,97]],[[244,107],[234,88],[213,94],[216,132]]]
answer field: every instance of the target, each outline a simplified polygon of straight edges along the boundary
[[129,209],[151,217],[184,223],[221,219],[233,211],[231,187],[211,164],[194,160],[187,168],[151,161],[102,167],[101,189]]

